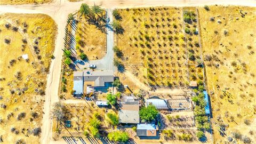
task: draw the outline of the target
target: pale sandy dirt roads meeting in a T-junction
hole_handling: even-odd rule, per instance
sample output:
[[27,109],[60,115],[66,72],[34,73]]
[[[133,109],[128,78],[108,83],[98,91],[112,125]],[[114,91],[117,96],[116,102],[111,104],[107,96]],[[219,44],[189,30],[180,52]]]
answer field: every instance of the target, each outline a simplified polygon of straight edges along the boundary
[[245,5],[245,6],[256,6],[256,2],[252,0],[248,1],[80,1],[80,2],[69,2],[67,0],[54,1],[50,4],[42,5],[1,5],[0,13],[44,13],[50,15],[58,25],[58,36],[56,39],[54,56],[50,67],[50,73],[47,76],[46,95],[44,103],[44,117],[42,126],[41,143],[54,143],[51,141],[51,106],[54,102],[59,101],[58,88],[59,78],[61,73],[61,59],[63,48],[63,37],[65,36],[65,26],[67,15],[75,10],[79,9],[82,3],[89,5],[101,5],[103,8],[126,8],[126,7],[148,7],[148,6],[193,6],[193,5],[211,5],[211,4],[233,4],[233,5]]

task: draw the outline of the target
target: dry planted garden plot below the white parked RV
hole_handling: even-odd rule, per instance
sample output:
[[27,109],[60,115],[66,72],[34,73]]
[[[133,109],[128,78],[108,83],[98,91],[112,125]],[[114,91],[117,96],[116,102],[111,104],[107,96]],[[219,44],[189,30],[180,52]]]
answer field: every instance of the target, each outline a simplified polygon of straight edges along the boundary
[[[62,104],[61,104],[62,105]],[[53,121],[53,137],[59,139],[62,137],[82,137],[86,140],[87,137],[97,137],[97,135],[91,135],[98,130],[104,135],[108,132],[108,129],[112,129],[107,113],[115,114],[112,109],[99,108],[95,106],[94,102],[87,101],[83,105],[63,105],[65,107],[65,113],[67,121],[71,124],[69,127],[68,122]],[[106,112],[107,111],[107,112]],[[96,120],[98,119],[98,120]],[[95,121],[100,122],[100,126],[97,130],[92,130],[92,123]],[[95,122],[96,123],[96,122]],[[96,133],[94,133],[96,134]],[[106,135],[105,135],[106,136]]]

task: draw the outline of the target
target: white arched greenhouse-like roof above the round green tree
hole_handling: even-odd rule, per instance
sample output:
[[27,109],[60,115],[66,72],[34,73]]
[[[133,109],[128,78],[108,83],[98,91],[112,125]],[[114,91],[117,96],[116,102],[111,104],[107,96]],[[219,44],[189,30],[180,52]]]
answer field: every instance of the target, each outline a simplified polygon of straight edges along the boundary
[[156,109],[169,109],[167,102],[164,99],[158,97],[151,97],[146,100],[146,107],[149,105],[154,105]]

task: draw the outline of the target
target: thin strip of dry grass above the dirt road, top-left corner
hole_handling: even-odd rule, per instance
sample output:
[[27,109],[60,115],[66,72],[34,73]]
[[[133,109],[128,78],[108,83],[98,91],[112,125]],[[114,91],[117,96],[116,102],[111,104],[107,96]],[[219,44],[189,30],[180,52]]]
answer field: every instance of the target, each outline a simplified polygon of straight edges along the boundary
[[7,5],[7,4],[13,4],[13,5],[19,5],[19,4],[43,4],[43,3],[50,3],[52,0],[1,0],[0,5]]

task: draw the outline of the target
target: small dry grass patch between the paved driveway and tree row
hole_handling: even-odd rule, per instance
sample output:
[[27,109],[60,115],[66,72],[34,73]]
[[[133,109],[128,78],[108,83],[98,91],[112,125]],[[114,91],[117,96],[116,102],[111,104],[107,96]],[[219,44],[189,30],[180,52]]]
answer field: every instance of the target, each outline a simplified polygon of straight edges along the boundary
[[[102,13],[105,17],[105,11]],[[88,19],[77,13],[76,42],[79,51],[84,52],[89,60],[97,60],[106,54],[106,30],[88,22]],[[78,51],[78,52],[79,52]]]

